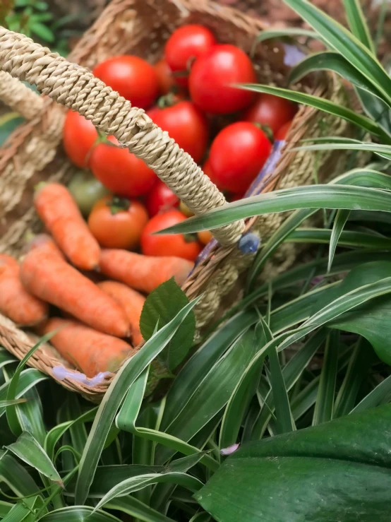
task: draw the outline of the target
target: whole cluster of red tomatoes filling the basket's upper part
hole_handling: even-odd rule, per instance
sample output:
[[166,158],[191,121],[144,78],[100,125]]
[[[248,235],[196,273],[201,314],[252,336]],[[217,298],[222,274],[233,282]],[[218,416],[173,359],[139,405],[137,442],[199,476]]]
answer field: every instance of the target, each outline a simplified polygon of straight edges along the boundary
[[[219,44],[202,25],[173,32],[155,65],[124,55],[103,61],[92,72],[133,106],[145,109],[202,165],[229,201],[243,196],[270,155],[271,137],[283,139],[296,112],[287,100],[239,88],[240,83],[256,82],[251,59],[239,47]],[[117,145],[113,136],[98,135],[77,112],[66,115],[64,148],[76,165],[92,171],[91,194],[101,193],[99,180],[115,195],[85,210],[92,233],[103,247],[140,246],[146,255],[195,259],[209,232],[198,237],[152,235],[186,219],[188,211],[143,160]]]

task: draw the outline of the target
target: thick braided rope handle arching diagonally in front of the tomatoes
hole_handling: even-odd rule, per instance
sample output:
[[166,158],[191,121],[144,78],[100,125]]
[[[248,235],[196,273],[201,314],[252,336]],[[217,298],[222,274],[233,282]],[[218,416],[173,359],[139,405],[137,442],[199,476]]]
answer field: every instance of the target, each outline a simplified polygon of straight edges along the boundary
[[[114,135],[184,201],[195,215],[223,206],[224,196],[190,155],[169,138],[143,109],[131,103],[84,67],[71,64],[30,38],[0,26],[0,69],[28,83],[56,102]],[[234,244],[244,230],[243,220],[213,230],[222,245]]]

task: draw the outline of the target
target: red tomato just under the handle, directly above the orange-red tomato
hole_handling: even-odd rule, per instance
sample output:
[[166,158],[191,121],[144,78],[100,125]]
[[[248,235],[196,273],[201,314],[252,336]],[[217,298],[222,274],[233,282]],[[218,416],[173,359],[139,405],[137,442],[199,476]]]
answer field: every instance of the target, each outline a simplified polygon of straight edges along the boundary
[[[107,138],[118,144],[114,136]],[[92,150],[92,173],[110,191],[124,198],[136,198],[146,194],[155,184],[157,176],[143,160],[126,148],[116,148],[100,143]]]

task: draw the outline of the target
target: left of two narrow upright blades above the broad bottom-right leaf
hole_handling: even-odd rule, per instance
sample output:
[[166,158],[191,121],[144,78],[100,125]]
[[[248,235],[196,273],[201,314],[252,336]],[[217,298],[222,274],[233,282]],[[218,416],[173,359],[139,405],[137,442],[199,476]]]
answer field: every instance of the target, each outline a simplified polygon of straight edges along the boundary
[[329,333],[323,356],[322,372],[313,412],[313,426],[332,420],[337,380],[339,332]]

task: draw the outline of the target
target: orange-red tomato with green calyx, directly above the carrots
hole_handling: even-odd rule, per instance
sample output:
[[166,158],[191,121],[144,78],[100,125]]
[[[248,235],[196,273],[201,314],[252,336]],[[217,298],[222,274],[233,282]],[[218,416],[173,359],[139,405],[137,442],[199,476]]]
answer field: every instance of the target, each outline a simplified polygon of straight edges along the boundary
[[109,249],[136,249],[148,212],[140,201],[106,196],[95,203],[88,227],[97,242]]

